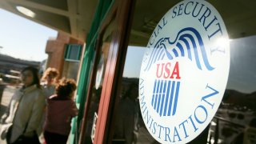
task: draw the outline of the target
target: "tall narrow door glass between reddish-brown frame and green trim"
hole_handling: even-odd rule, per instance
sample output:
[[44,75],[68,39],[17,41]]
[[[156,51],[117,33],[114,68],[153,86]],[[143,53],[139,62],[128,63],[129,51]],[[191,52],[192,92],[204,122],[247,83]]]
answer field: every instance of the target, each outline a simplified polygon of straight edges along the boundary
[[100,35],[98,46],[96,47],[96,58],[94,62],[94,70],[90,80],[90,90],[86,101],[86,116],[83,126],[83,141],[85,143],[93,143],[95,134],[95,125],[98,120],[99,102],[102,98],[102,84],[106,78],[107,61],[112,55],[110,46],[113,40],[114,23],[111,21],[106,29]]

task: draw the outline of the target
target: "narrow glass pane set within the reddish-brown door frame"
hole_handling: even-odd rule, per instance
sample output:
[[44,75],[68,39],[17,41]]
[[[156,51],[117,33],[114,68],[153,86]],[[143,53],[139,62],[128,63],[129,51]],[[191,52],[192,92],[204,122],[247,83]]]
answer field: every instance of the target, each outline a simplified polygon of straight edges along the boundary
[[106,62],[110,50],[110,42],[112,40],[112,34],[114,30],[114,20],[107,26],[103,36],[102,36],[102,45],[100,48],[100,54],[97,60],[97,70],[93,82],[93,88],[90,95],[88,111],[86,114],[86,143],[92,143],[91,133],[94,129],[94,115],[98,114],[98,106],[102,94],[102,82],[104,79],[104,74],[106,70]]

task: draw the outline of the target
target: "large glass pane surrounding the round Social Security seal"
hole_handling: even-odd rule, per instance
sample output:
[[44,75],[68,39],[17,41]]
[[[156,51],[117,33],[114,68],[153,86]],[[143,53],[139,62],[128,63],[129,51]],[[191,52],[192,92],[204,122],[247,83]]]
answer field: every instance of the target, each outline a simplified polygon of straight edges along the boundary
[[[116,143],[158,143],[142,120],[138,81],[143,54],[164,14],[181,1],[136,3],[122,74],[122,91],[114,108]],[[256,143],[256,2],[208,1],[222,15],[230,37],[230,74],[222,103],[210,125],[190,143]]]

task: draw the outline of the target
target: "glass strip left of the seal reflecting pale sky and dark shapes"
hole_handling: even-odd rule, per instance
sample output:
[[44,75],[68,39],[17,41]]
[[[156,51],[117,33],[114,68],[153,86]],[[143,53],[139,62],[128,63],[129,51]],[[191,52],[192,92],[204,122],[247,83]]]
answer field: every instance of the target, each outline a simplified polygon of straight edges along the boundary
[[146,130],[138,102],[138,78],[145,50],[128,46],[114,122],[114,143],[158,143]]

